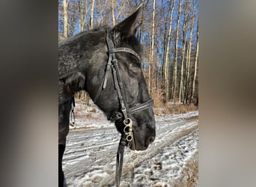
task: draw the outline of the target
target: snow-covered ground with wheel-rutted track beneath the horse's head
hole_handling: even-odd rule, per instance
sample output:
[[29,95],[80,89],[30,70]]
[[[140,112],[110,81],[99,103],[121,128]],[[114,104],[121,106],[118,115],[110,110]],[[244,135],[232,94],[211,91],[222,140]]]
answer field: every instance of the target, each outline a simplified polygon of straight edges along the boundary
[[[94,106],[76,102],[63,169],[68,186],[115,186],[120,134]],[[156,116],[156,139],[124,151],[121,186],[198,186],[198,111]]]

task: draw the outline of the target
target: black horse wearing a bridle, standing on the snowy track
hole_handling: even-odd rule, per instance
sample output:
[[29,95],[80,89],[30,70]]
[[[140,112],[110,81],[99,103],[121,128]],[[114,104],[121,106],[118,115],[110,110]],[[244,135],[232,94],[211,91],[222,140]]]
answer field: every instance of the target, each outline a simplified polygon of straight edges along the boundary
[[142,49],[135,37],[140,10],[114,28],[105,25],[85,31],[58,45],[59,186],[65,186],[62,157],[77,91],[87,91],[122,135],[132,121],[132,140],[128,140],[132,144],[126,144],[130,149],[146,150],[155,138],[152,100],[140,66]]

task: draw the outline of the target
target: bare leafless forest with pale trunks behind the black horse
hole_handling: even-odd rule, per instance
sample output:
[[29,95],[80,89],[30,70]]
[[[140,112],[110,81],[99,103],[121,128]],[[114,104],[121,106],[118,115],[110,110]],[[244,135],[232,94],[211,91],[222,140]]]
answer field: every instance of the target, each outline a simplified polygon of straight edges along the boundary
[[141,68],[155,106],[198,105],[198,0],[59,0],[58,40],[116,25],[140,4]]

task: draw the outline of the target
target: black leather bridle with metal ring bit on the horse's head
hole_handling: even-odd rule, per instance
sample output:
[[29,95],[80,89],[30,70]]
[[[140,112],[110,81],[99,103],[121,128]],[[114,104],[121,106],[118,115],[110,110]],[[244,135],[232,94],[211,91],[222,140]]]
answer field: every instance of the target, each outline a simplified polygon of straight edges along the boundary
[[138,61],[141,61],[141,58],[132,49],[129,49],[126,47],[115,48],[112,40],[112,31],[109,31],[109,29],[106,29],[106,43],[108,46],[109,59],[108,59],[108,63],[106,64],[106,70],[105,70],[105,75],[103,76],[103,81],[100,84],[100,87],[96,93],[96,96],[94,97],[94,103],[97,104],[97,100],[99,99],[100,94],[106,88],[109,72],[110,70],[112,70],[112,76],[114,80],[115,90],[118,92],[118,100],[120,103],[119,107],[121,109],[121,112],[118,111],[118,112],[115,112],[115,114],[112,114],[112,116],[110,117],[110,120],[112,122],[115,122],[116,120],[124,119],[124,126],[125,126],[124,133],[122,133],[121,135],[121,141],[118,147],[117,163],[116,163],[117,165],[116,165],[115,180],[116,180],[116,186],[119,186],[120,180],[121,180],[121,173],[122,173],[124,147],[127,142],[128,142],[128,147],[130,147],[133,140],[132,120],[129,118],[129,116],[138,111],[143,111],[144,109],[152,107],[153,99],[148,99],[143,103],[138,103],[132,106],[131,108],[128,108],[127,100],[125,98],[123,83],[122,83],[120,71],[118,68],[118,59],[116,58],[115,53],[128,52],[129,54],[132,54],[133,56],[135,56],[135,58],[137,58]]

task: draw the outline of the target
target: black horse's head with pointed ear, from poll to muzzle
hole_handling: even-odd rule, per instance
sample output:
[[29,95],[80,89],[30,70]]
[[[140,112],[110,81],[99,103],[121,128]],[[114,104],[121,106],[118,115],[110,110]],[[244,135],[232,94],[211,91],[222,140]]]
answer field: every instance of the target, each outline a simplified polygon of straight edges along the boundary
[[[114,65],[109,63],[109,70],[108,65],[103,69],[105,70],[105,77],[103,76],[102,84],[95,85],[99,89],[91,94],[94,102],[106,113],[108,119],[115,121],[115,126],[121,134],[124,134],[125,128],[125,114],[121,105],[121,99],[124,100],[127,116],[132,121],[132,144],[129,144],[129,148],[132,150],[146,150],[156,135],[153,108],[152,105],[148,104],[150,103],[150,96],[141,70],[142,48],[135,37],[139,12],[140,9],[123,22],[115,25],[114,28],[108,28],[107,31],[107,53],[110,55],[111,50],[115,52],[115,58],[118,61],[117,71],[120,75],[121,93],[118,95],[118,91],[116,91],[119,82],[118,80],[115,81],[113,72],[115,70],[112,70],[112,73],[106,73],[107,71],[111,72],[110,66]],[[108,34],[110,38],[108,38]],[[112,48],[108,40],[112,40],[109,41],[112,43]],[[105,59],[109,60],[109,58]],[[105,61],[105,64],[107,64],[107,61]],[[144,103],[147,103],[147,105]],[[143,107],[145,105],[146,107]],[[138,110],[129,112],[129,108],[136,108],[136,106],[138,106]],[[118,114],[123,115],[117,117]]]

